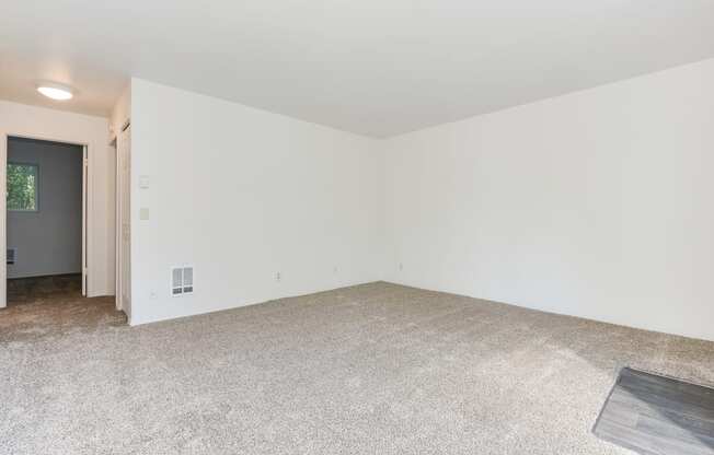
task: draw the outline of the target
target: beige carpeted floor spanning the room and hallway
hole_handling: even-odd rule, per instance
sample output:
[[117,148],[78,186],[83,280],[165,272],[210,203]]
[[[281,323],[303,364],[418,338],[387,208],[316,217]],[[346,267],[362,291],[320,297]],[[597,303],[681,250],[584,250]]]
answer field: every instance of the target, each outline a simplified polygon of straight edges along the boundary
[[1,454],[626,454],[619,368],[714,383],[714,343],[371,283],[130,328],[0,312]]

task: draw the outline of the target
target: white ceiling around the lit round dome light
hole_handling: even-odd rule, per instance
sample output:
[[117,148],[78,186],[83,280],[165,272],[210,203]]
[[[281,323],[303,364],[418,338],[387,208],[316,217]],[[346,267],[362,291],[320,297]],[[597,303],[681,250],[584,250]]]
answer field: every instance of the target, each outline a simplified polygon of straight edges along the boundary
[[[387,137],[714,57],[712,0],[10,0],[0,98],[135,75]],[[74,86],[42,98],[36,80]]]

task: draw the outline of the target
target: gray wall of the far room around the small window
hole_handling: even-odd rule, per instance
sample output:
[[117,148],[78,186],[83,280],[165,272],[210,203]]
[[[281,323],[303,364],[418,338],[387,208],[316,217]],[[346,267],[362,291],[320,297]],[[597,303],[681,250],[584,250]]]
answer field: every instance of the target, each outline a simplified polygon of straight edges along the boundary
[[8,211],[8,278],[82,269],[82,148],[10,138],[8,162],[38,165],[37,212]]

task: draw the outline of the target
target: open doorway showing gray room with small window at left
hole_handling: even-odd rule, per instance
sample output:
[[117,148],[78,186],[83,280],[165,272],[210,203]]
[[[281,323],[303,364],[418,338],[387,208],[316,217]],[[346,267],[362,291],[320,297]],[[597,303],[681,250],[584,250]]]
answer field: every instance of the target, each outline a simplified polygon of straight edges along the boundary
[[7,138],[7,304],[85,296],[88,148]]

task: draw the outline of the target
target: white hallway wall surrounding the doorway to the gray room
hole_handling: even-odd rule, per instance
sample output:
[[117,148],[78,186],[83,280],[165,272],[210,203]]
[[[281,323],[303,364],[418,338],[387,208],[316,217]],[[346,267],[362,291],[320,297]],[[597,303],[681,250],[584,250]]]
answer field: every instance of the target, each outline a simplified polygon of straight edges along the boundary
[[[24,136],[60,142],[84,143],[90,153],[90,213],[89,292],[90,295],[114,293],[114,191],[107,183],[112,174],[110,160],[108,120],[44,107],[0,101],[0,156],[7,156],[5,136]],[[0,182],[4,185],[5,170],[0,166]],[[4,206],[3,206],[4,209]],[[0,231],[4,230],[3,223]],[[0,248],[4,264],[5,249]],[[0,268],[4,272],[4,267]],[[4,294],[4,277],[0,277],[0,293]]]

